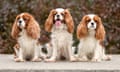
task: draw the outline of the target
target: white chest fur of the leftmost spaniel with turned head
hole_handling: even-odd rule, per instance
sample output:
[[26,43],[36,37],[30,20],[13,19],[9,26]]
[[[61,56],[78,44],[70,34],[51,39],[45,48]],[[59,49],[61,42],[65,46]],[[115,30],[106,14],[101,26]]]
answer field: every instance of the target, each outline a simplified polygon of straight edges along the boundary
[[36,43],[37,40],[29,37],[27,35],[26,30],[22,30],[19,35],[20,35],[20,37],[18,38],[18,42],[20,44],[20,48],[22,48],[23,51],[24,51],[23,53],[25,53],[27,55],[33,53],[35,43]]

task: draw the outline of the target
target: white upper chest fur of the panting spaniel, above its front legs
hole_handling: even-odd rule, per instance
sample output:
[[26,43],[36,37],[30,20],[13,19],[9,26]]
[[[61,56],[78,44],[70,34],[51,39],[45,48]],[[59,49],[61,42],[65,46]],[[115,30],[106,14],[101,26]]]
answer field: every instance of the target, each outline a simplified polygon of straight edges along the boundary
[[51,38],[54,39],[59,46],[64,46],[72,40],[72,34],[67,31],[66,24],[61,24],[58,28],[53,27]]

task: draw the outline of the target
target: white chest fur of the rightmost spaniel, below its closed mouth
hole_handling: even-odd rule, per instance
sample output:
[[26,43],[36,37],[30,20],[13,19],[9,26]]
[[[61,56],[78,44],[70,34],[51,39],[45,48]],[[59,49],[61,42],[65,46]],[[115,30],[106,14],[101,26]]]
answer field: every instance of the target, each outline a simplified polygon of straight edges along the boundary
[[80,52],[82,53],[93,53],[96,48],[98,40],[95,38],[95,31],[88,33],[88,36],[80,40]]

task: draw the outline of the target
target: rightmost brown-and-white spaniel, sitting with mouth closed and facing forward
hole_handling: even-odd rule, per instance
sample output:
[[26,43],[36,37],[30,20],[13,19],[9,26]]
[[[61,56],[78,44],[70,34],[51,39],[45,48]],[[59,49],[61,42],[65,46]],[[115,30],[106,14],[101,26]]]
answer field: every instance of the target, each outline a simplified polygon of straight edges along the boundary
[[77,27],[77,38],[80,40],[78,45],[79,61],[101,61],[109,60],[105,55],[103,40],[105,29],[101,18],[94,14],[85,15]]

